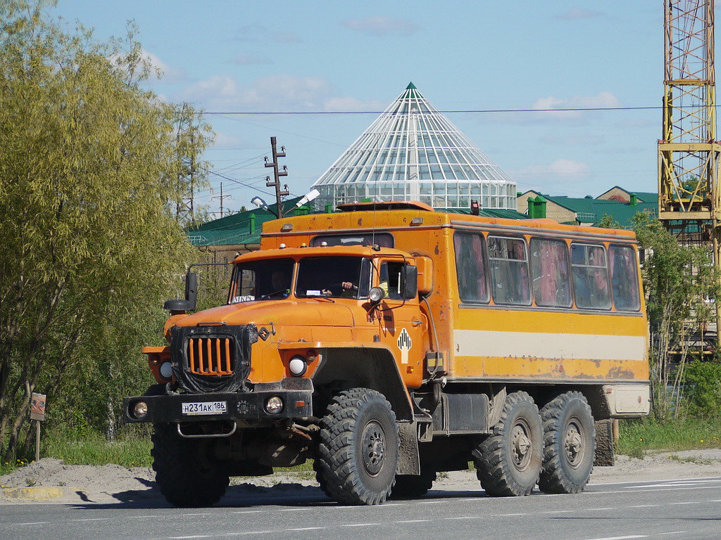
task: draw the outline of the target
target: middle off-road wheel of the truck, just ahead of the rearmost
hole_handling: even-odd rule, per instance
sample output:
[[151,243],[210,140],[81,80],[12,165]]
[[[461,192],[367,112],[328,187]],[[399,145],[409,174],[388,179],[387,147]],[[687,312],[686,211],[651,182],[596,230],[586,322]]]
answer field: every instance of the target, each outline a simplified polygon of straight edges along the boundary
[[543,450],[541,417],[526,392],[513,392],[500,420],[473,451],[477,477],[487,495],[530,495],[539,478]]

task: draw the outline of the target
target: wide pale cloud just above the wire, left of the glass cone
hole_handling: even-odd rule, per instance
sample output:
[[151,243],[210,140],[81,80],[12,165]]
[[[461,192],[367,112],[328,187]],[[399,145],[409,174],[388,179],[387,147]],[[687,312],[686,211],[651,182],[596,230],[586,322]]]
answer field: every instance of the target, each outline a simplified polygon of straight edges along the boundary
[[179,97],[203,107],[215,105],[239,111],[322,110],[334,90],[320,77],[276,75],[244,85],[222,75],[188,86]]

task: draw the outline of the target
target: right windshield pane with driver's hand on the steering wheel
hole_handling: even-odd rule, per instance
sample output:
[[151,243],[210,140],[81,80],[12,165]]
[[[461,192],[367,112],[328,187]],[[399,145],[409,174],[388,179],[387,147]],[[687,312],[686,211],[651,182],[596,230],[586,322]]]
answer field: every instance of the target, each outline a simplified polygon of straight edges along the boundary
[[298,263],[297,297],[368,298],[371,260],[361,257],[308,257]]

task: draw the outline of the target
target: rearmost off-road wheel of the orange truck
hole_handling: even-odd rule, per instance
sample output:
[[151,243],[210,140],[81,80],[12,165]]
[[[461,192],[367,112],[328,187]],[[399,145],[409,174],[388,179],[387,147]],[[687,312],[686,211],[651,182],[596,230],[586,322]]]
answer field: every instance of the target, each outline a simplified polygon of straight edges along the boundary
[[546,493],[580,493],[588,483],[596,452],[596,428],[588,401],[566,392],[541,408],[544,427],[539,488]]

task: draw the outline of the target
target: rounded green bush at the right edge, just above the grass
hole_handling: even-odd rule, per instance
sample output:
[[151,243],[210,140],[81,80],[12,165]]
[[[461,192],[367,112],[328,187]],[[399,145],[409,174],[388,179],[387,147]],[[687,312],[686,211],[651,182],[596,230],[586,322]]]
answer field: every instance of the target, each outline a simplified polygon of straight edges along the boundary
[[721,418],[721,361],[694,360],[686,366],[684,394],[689,413],[697,418]]

